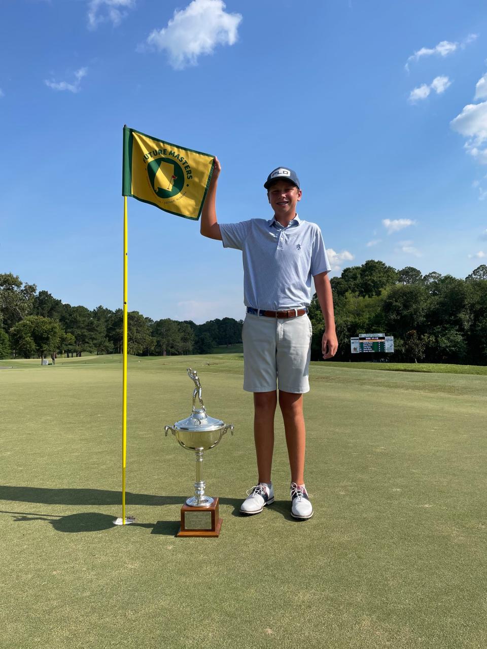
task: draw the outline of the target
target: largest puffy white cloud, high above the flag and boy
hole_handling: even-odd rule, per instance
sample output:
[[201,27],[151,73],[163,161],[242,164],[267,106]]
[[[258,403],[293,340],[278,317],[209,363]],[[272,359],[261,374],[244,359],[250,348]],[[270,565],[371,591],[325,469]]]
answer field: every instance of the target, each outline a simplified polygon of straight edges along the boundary
[[163,29],[147,37],[147,45],[166,50],[176,70],[195,66],[201,55],[212,54],[217,45],[233,45],[238,38],[240,14],[227,14],[222,0],[193,0],[186,9],[175,10]]

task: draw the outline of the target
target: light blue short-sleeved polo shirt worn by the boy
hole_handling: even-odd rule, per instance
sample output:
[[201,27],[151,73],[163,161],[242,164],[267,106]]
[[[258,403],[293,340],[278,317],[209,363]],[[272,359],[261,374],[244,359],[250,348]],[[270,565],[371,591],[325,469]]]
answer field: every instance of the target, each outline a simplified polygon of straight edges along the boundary
[[309,306],[311,278],[331,270],[318,225],[297,214],[288,227],[274,218],[219,227],[223,247],[242,251],[245,306],[271,311]]

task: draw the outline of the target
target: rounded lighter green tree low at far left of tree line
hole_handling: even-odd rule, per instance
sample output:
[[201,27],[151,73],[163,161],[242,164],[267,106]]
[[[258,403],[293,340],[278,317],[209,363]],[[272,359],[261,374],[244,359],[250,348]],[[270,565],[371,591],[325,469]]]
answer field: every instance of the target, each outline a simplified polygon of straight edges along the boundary
[[36,354],[41,362],[45,354],[58,350],[62,334],[59,323],[42,315],[29,315],[10,330],[16,352],[25,358]]

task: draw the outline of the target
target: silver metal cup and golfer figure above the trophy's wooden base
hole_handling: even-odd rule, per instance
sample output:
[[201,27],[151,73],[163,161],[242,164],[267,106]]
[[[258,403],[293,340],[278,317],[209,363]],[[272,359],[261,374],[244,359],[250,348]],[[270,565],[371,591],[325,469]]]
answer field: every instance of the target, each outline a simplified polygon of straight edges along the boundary
[[[165,426],[164,430],[166,431],[166,436],[170,430],[176,437],[177,441],[179,441],[182,448],[194,450],[195,452],[196,482],[194,484],[194,496],[191,496],[191,498],[186,500],[186,506],[189,508],[214,508],[216,506],[218,508],[218,498],[210,498],[210,496],[205,495],[205,482],[203,480],[203,451],[216,447],[227,430],[230,429],[233,435],[233,424],[225,424],[221,419],[214,419],[214,417],[208,416],[205,405],[203,404],[203,399],[201,398],[201,383],[199,382],[196,371],[191,369],[191,367],[188,367],[188,376],[195,384],[193,391],[193,410],[189,417],[175,422],[173,426]],[[184,508],[185,507],[183,507],[183,509]],[[189,520],[190,517],[187,518]],[[196,518],[195,515],[192,516],[192,520],[195,520]],[[200,518],[206,520],[205,517]],[[212,519],[214,519],[214,516],[212,516]],[[218,522],[218,511],[216,521]],[[188,524],[184,526],[184,515],[181,513],[181,530],[184,532],[184,529],[187,528]],[[200,527],[197,529],[203,530],[203,528]]]

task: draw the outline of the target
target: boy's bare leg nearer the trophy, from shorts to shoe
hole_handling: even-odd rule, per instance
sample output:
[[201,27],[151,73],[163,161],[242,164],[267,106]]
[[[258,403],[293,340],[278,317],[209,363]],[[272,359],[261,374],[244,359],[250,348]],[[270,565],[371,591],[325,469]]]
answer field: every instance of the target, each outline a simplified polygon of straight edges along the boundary
[[258,482],[271,482],[277,390],[254,393],[254,439]]

